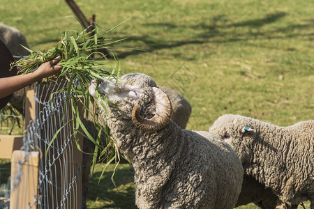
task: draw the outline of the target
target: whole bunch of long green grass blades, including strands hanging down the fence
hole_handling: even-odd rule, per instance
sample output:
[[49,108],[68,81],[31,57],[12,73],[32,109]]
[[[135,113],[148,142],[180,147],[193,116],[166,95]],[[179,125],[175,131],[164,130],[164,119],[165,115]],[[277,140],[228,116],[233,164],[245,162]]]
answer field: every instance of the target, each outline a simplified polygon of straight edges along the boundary
[[[117,26],[116,26],[117,27]],[[114,28],[116,28],[114,27]],[[112,31],[112,29],[110,30]],[[83,29],[82,31],[66,31],[63,32],[61,40],[57,43],[56,47],[47,50],[46,52],[34,52],[31,49],[29,56],[15,61],[14,66],[19,66],[20,74],[27,74],[36,70],[42,63],[54,59],[56,56],[61,56],[61,61],[58,65],[62,65],[63,68],[59,75],[43,79],[41,83],[48,83],[48,81],[53,82],[54,79],[63,78],[68,80],[68,85],[59,91],[67,92],[66,102],[70,102],[71,114],[73,120],[68,121],[73,125],[75,142],[77,148],[80,148],[78,143],[77,134],[81,134],[87,139],[91,140],[96,146],[94,150],[94,160],[93,169],[96,162],[98,162],[98,151],[100,150],[100,157],[106,161],[104,171],[114,160],[119,163],[119,152],[114,144],[114,139],[110,136],[110,130],[105,123],[100,124],[96,117],[96,111],[89,110],[89,102],[94,102],[94,98],[89,94],[89,86],[91,81],[95,78],[103,79],[103,77],[119,77],[120,67],[119,61],[112,51],[111,45],[120,40],[113,40],[112,38],[107,38],[110,31],[103,31],[99,29],[97,25],[93,26],[92,29]],[[112,56],[114,64],[112,61],[107,59],[108,54],[104,54],[100,50],[105,49]],[[78,81],[78,82],[77,82]],[[96,89],[96,94],[98,100],[101,98],[107,100],[104,95],[100,95]],[[54,93],[52,93],[54,95]],[[51,97],[52,98],[52,97]],[[68,103],[67,103],[68,104]],[[94,125],[98,130],[98,137],[94,139],[89,134],[86,127],[80,118],[80,104],[83,104],[84,109],[86,109],[86,118],[91,114],[94,118]],[[105,108],[105,106],[102,104]],[[68,107],[68,105],[66,105]],[[95,109],[94,109],[95,110]],[[66,111],[63,111],[66,112]],[[62,128],[62,127],[61,127]],[[58,130],[52,140],[50,145],[57,138],[57,135],[61,131]],[[102,143],[101,136],[106,135],[106,144]],[[47,150],[46,150],[47,151]],[[103,171],[103,173],[104,173]]]

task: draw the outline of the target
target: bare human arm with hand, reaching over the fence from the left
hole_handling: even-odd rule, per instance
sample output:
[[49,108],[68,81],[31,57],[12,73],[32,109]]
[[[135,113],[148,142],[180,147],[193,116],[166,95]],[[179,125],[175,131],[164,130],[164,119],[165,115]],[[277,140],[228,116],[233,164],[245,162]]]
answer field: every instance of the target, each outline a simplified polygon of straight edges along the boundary
[[21,88],[38,82],[44,77],[57,74],[62,68],[62,66],[57,65],[60,59],[61,57],[57,56],[51,61],[43,63],[37,70],[28,74],[0,78],[0,98],[4,98]]

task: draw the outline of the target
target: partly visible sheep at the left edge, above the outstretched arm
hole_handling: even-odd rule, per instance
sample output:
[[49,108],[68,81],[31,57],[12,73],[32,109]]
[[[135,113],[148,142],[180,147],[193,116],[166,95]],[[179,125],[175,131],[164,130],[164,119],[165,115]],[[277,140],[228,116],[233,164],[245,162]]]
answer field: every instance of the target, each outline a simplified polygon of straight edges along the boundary
[[0,40],[8,47],[12,55],[27,56],[29,52],[24,47],[29,48],[27,40],[21,31],[0,23]]

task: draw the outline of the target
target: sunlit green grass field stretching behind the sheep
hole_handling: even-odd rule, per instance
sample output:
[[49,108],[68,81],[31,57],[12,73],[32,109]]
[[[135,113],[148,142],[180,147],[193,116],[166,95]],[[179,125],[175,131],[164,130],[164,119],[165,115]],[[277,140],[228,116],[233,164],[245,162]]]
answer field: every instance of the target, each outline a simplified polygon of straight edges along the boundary
[[[130,18],[112,32],[128,38],[115,47],[144,50],[117,49],[122,72],[143,72],[184,95],[193,107],[189,130],[208,130],[222,114],[276,125],[313,120],[314,1],[75,2],[106,30]],[[34,50],[53,47],[61,31],[80,29],[68,15],[63,0],[0,3],[0,22],[20,29]],[[135,208],[133,174],[124,167],[117,188],[110,178],[98,185],[96,170],[90,208]]]

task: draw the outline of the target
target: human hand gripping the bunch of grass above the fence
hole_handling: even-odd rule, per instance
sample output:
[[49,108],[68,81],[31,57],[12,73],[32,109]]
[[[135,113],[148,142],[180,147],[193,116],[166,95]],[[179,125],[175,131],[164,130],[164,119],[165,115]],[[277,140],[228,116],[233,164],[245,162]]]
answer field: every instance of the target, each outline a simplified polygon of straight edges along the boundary
[[39,68],[34,71],[34,75],[40,79],[45,77],[50,77],[50,75],[55,75],[62,69],[62,66],[57,65],[57,63],[61,60],[61,56],[57,56],[56,58],[52,59],[51,61],[47,61],[39,66]]

